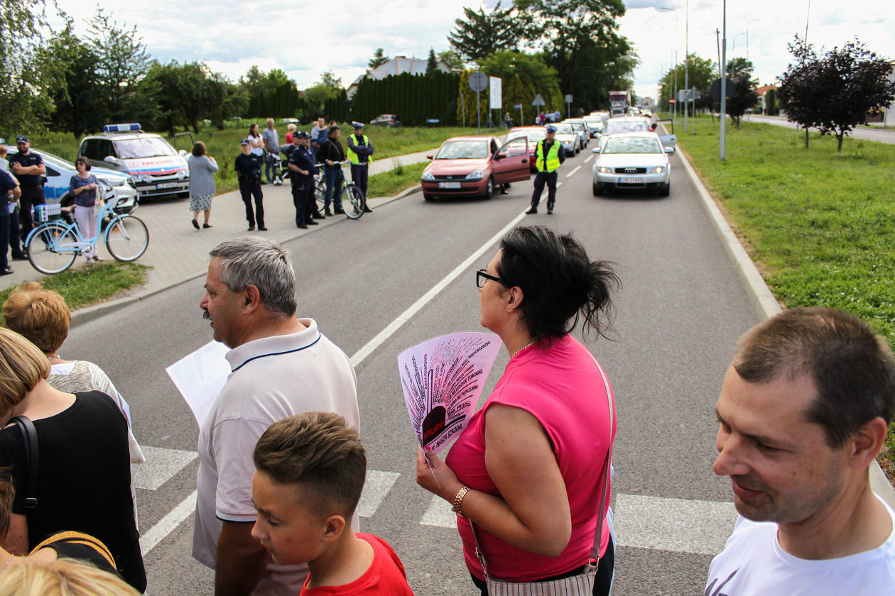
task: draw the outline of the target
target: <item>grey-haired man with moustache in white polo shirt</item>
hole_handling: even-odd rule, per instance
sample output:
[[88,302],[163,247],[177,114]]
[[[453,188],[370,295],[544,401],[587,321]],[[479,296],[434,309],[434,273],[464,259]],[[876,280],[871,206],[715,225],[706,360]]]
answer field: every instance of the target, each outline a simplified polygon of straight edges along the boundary
[[276,565],[251,537],[252,450],[270,424],[302,412],[336,412],[357,428],[354,367],[313,319],[296,318],[284,248],[245,236],[210,256],[200,307],[233,372],[200,429],[192,556],[215,569],[216,596],[297,594],[307,566]]

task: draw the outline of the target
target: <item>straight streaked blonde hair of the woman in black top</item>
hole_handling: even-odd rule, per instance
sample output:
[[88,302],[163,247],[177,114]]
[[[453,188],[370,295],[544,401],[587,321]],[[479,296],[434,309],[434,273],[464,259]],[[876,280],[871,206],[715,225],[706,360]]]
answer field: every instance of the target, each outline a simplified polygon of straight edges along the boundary
[[18,333],[0,327],[0,412],[17,406],[48,374],[47,355]]

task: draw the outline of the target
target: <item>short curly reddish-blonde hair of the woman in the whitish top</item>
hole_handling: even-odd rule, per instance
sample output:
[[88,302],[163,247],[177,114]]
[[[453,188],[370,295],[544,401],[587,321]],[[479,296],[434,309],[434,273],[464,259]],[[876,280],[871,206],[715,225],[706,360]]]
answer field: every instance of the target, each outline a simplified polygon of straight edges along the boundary
[[29,281],[13,290],[4,302],[3,317],[13,332],[49,353],[62,346],[72,323],[72,311],[65,298],[53,290],[44,290],[39,281]]

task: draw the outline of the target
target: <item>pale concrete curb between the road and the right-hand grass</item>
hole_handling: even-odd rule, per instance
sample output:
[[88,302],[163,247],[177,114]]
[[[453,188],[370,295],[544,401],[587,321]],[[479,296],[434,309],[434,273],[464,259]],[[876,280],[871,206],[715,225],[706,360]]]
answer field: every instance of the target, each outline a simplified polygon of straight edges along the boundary
[[[686,153],[680,147],[678,147],[678,157],[680,157],[681,164],[684,164],[687,176],[696,188],[696,193],[699,195],[705,213],[709,216],[709,221],[712,222],[712,227],[718,234],[721,245],[727,252],[730,262],[736,268],[740,281],[743,282],[755,312],[763,319],[777,315],[783,310],[780,308],[780,303],[777,302],[777,298],[774,298],[768,285],[764,282],[762,274],[758,273],[758,268],[746,253],[746,248],[743,248],[737,235],[730,228],[730,224],[724,219],[714,197],[705,188],[703,180],[696,174]],[[883,474],[882,468],[875,460],[870,466],[870,487],[889,504],[889,507],[895,509],[895,489],[892,488],[886,474]]]

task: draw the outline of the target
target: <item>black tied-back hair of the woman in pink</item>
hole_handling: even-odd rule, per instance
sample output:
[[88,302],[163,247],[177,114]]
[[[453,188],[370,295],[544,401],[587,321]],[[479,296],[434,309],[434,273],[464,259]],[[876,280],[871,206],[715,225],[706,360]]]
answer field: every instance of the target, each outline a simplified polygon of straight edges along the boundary
[[621,287],[612,263],[593,261],[571,234],[543,226],[519,227],[500,240],[498,276],[523,291],[522,320],[533,340],[562,337],[579,316],[606,337],[611,325],[609,295]]

